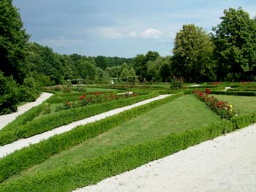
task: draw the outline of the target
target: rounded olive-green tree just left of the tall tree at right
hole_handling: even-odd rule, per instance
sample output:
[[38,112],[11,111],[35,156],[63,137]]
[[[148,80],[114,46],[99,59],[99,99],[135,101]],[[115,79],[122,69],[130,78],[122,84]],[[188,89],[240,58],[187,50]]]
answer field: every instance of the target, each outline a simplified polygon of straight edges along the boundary
[[174,75],[188,82],[214,80],[212,62],[214,44],[203,28],[184,25],[176,34],[173,48]]

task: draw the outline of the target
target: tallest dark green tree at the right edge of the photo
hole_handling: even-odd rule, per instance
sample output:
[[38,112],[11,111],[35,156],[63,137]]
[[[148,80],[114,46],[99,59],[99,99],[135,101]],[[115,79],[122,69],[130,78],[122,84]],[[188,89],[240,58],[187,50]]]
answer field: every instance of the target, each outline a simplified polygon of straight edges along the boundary
[[255,75],[256,24],[241,7],[225,9],[215,31],[214,55],[219,80],[243,80]]

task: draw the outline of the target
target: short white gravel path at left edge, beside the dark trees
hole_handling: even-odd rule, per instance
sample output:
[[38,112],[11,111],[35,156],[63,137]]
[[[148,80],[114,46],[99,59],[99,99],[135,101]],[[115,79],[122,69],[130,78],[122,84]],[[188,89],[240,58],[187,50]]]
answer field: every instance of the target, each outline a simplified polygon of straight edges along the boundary
[[37,98],[36,101],[30,102],[30,103],[24,104],[23,106],[18,107],[17,112],[13,112],[7,115],[1,115],[0,129],[4,128],[4,126],[7,126],[8,123],[12,122],[12,120],[15,120],[15,118],[17,118],[19,115],[22,115],[24,112],[30,110],[32,107],[42,104],[43,101],[45,101],[52,95],[53,93],[42,93],[41,96],[39,96],[39,98]]

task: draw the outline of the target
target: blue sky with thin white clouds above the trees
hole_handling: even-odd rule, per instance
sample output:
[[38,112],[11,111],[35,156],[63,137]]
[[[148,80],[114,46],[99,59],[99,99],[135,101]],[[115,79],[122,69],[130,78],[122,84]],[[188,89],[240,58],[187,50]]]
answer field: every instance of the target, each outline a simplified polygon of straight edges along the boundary
[[255,0],[12,0],[30,42],[70,55],[132,58],[148,50],[171,55],[184,24],[211,32],[224,9],[242,7],[251,18]]

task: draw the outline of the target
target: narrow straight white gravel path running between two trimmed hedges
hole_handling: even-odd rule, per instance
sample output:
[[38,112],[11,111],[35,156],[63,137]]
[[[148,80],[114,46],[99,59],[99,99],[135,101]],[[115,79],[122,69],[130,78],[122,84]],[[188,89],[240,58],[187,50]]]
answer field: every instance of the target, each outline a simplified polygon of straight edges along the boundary
[[29,137],[27,139],[20,139],[16,142],[12,142],[10,144],[0,146],[0,158],[4,157],[5,155],[7,155],[9,153],[14,152],[15,150],[19,150],[19,149],[21,149],[23,147],[27,147],[31,144],[38,143],[43,139],[48,139],[49,137],[53,137],[56,134],[62,134],[66,131],[70,131],[72,128],[75,128],[77,126],[85,125],[87,123],[91,123],[91,122],[94,122],[96,120],[101,120],[103,118],[107,118],[109,116],[116,115],[119,112],[123,112],[125,110],[130,110],[133,107],[138,107],[140,105],[147,104],[151,101],[156,101],[156,100],[159,100],[159,99],[163,99],[167,96],[170,96],[170,95],[159,95],[159,96],[157,96],[155,98],[152,98],[152,99],[147,99],[145,101],[140,101],[136,104],[132,104],[132,105],[129,105],[129,106],[126,106],[126,107],[121,107],[121,108],[118,108],[116,110],[110,110],[108,112],[104,112],[104,113],[99,114],[99,115],[94,115],[90,118],[85,118],[83,120],[78,120],[74,123],[70,123],[70,124],[65,125],[65,126],[60,126],[59,128],[54,128],[51,131],[47,131],[47,132],[42,133],[42,134],[37,134],[37,135],[35,135],[33,137]]

